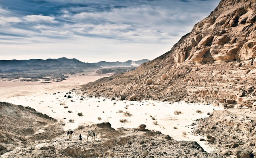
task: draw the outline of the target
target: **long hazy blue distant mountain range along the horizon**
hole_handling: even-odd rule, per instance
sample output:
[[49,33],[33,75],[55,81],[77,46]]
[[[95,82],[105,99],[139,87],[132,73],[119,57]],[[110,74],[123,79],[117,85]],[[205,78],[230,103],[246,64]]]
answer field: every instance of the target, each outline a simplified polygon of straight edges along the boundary
[[30,60],[0,60],[0,73],[15,73],[35,70],[84,70],[88,68],[103,67],[121,67],[121,66],[140,66],[149,60],[143,59],[138,61],[128,60],[126,62],[97,62],[85,63],[77,59],[58,58],[58,59],[30,59]]

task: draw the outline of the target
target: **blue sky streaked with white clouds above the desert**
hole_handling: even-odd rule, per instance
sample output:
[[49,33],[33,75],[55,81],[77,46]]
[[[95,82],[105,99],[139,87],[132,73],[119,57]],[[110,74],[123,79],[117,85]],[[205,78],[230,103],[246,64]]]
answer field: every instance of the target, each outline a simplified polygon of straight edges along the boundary
[[0,60],[153,60],[219,1],[0,0]]

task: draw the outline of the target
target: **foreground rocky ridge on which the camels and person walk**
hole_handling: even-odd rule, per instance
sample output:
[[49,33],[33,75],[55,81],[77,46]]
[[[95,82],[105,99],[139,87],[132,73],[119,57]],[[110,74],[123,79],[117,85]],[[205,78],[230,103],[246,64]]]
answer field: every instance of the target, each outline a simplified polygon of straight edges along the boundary
[[[86,140],[88,130],[100,132],[96,141]],[[42,140],[40,144],[26,146],[21,150],[14,150],[5,157],[212,157],[218,154],[206,153],[199,144],[193,141],[178,142],[170,136],[144,128],[124,129],[111,128],[108,122],[92,126],[79,126],[74,130],[73,140],[70,142],[66,134],[52,140]],[[84,140],[78,140],[82,134]]]

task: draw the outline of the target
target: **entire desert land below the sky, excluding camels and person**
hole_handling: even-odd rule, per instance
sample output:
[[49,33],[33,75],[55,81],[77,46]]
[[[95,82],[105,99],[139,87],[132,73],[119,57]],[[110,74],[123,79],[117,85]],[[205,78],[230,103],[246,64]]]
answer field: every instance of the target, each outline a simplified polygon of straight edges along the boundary
[[221,0],[154,60],[0,60],[3,158],[254,158],[255,134],[256,0]]

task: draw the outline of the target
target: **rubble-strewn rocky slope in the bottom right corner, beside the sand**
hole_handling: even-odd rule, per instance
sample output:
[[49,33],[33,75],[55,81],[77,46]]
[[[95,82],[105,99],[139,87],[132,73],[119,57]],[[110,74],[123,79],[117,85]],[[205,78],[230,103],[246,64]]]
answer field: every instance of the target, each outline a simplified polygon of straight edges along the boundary
[[253,109],[214,111],[210,117],[198,120],[194,134],[210,135],[210,144],[223,156],[237,158],[256,156],[256,112]]

